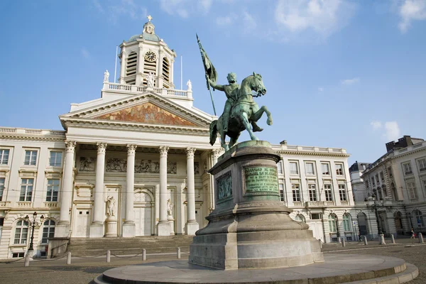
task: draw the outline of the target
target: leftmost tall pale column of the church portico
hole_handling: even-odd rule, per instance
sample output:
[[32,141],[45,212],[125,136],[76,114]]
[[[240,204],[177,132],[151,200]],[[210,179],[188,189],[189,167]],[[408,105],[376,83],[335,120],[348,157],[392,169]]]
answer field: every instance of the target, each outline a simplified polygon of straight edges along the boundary
[[64,178],[60,195],[60,217],[55,228],[55,237],[70,236],[70,207],[72,200],[72,168],[74,168],[75,141],[65,141]]

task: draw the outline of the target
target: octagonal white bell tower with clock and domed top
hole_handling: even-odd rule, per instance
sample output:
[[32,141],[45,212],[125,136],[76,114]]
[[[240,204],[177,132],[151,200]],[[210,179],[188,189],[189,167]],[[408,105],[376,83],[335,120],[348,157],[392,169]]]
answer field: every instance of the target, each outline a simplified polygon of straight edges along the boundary
[[120,45],[119,83],[146,86],[148,75],[153,73],[154,87],[174,89],[175,50],[171,50],[163,39],[155,34],[152,17],[147,18],[148,22],[143,25],[142,33],[133,35]]

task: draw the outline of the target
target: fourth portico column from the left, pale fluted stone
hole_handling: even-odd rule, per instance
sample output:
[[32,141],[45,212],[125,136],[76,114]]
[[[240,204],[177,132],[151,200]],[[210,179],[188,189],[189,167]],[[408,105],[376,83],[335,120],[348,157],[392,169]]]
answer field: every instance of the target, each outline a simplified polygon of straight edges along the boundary
[[160,220],[158,236],[170,236],[170,224],[167,217],[167,153],[168,146],[160,146]]

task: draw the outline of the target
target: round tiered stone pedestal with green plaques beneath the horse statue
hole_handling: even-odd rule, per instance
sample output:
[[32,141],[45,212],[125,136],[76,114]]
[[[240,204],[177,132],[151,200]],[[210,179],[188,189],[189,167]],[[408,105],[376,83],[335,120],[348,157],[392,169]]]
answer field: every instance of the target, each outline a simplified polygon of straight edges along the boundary
[[283,268],[322,262],[320,244],[280,202],[275,154],[266,141],[239,143],[209,170],[216,207],[196,232],[189,262],[219,269]]

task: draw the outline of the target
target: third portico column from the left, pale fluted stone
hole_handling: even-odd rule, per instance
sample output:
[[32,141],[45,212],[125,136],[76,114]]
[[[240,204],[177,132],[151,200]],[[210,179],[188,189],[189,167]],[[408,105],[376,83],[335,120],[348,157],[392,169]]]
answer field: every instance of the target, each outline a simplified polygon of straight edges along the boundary
[[136,145],[127,145],[126,215],[123,224],[124,237],[135,236],[135,213],[133,211],[135,183],[135,152]]

